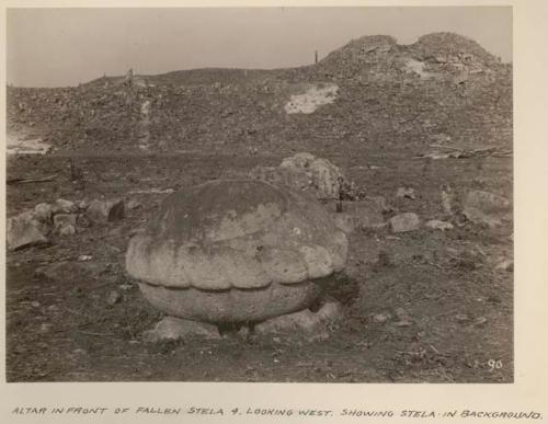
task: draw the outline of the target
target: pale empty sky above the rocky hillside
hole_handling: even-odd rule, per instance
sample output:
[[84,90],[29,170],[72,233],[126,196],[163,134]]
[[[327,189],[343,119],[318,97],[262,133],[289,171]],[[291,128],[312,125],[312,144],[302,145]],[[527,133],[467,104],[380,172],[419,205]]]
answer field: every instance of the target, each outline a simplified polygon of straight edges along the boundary
[[454,32],[512,61],[510,7],[8,9],[7,82],[67,87],[193,68],[312,64],[364,35]]

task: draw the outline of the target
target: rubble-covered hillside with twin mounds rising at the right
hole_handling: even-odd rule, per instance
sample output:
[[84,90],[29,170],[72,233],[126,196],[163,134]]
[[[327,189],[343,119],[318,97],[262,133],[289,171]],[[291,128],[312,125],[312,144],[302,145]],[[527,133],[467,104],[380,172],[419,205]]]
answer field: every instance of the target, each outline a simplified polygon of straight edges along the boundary
[[82,152],[511,148],[512,65],[456,34],[366,36],[300,68],[8,88],[8,131]]

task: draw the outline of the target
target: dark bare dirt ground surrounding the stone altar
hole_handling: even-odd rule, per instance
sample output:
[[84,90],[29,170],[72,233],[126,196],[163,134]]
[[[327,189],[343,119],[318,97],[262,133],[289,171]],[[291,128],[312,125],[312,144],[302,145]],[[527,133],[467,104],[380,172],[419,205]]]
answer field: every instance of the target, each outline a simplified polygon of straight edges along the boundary
[[[140,207],[122,221],[54,238],[7,257],[7,370],[9,381],[315,381],[512,382],[512,220],[495,229],[471,222],[449,231],[350,236],[344,275],[328,295],[346,318],[322,342],[288,343],[226,332],[219,341],[147,344],[141,334],[160,313],[124,273],[124,254],[165,193],[212,179],[246,175],[277,156],[135,154],[73,157],[84,184],[69,179],[68,157],[16,156],[8,179],[57,174],[53,182],[8,185],[8,215],[61,197],[124,197]],[[441,186],[457,198],[479,188],[512,193],[512,159],[429,161],[411,154],[353,151],[330,156],[367,194],[422,220],[443,217]],[[397,198],[411,186],[416,198]],[[135,192],[135,193],[133,193]],[[126,203],[127,204],[127,203]],[[91,255],[91,261],[78,261]],[[52,278],[41,267],[62,263]],[[122,301],[107,301],[112,291]],[[402,319],[404,317],[404,319]]]

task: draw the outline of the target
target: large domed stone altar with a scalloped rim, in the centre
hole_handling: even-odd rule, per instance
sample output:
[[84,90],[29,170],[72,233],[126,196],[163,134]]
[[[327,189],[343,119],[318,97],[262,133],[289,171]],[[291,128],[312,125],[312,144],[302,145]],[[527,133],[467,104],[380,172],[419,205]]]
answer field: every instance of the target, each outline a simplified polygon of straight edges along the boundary
[[262,321],[310,306],[316,279],[343,270],[347,240],[308,196],[218,180],[170,195],[129,241],[126,270],[179,318]]

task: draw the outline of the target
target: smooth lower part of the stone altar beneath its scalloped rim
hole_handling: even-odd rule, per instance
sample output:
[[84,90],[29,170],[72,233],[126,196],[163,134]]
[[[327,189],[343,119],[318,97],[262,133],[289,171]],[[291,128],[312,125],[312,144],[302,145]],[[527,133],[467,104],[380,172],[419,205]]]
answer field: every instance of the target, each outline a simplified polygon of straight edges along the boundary
[[201,290],[139,283],[142,296],[158,310],[179,318],[214,324],[261,322],[307,309],[321,289],[312,282],[265,288]]

